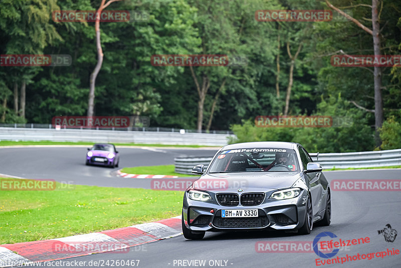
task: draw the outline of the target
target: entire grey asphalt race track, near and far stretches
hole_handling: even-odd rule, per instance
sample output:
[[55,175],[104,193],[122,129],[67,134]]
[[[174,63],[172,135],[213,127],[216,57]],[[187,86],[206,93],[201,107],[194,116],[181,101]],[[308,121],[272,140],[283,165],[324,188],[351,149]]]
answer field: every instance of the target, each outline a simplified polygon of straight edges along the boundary
[[[212,156],[215,151],[200,150],[142,150],[120,149],[121,166],[173,164],[180,155]],[[124,179],[113,177],[112,169],[87,167],[84,165],[84,148],[29,148],[0,149],[0,173],[25,178],[51,178],[57,181],[71,180],[77,184],[138,187],[146,179]],[[401,170],[337,171],[325,172],[332,179],[400,179]],[[343,264],[316,265],[319,258],[314,252],[260,252],[255,247],[259,241],[310,241],[321,232],[332,232],[338,238],[351,240],[369,237],[369,242],[342,248],[336,256],[347,257],[398,249],[401,251],[401,234],[393,242],[386,242],[377,230],[391,224],[401,232],[401,193],[399,191],[332,191],[332,222],[330,226],[314,227],[309,235],[284,232],[224,232],[207,233],[203,240],[186,240],[177,236],[157,242],[132,247],[129,252],[99,253],[64,259],[64,261],[101,261],[103,267],[113,267],[116,260],[128,261],[138,267],[401,267],[401,252],[398,255],[374,254],[371,259],[347,261]],[[337,239],[338,239],[337,238]],[[273,248],[273,246],[272,246]],[[371,255],[370,255],[371,256]],[[107,260],[109,261],[107,265]],[[131,260],[139,260],[131,262]],[[192,261],[192,262],[191,262]],[[194,262],[195,261],[195,262]],[[205,261],[203,263],[202,261]],[[70,262],[71,264],[71,262]],[[190,265],[192,264],[192,265]],[[49,263],[48,265],[52,265]],[[46,265],[47,266],[47,265]],[[99,265],[102,266],[102,265]],[[54,264],[53,264],[54,267]],[[64,267],[64,266],[63,266]],[[65,266],[68,267],[68,266]],[[75,266],[82,267],[82,266]]]

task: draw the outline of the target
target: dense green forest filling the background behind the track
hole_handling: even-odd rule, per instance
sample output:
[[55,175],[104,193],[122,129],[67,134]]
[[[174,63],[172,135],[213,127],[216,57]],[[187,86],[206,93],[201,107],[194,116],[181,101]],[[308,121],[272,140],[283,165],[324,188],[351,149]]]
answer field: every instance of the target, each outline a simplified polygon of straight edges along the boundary
[[[400,55],[399,0],[2,0],[0,51],[70,55],[70,66],[0,66],[0,123],[87,115],[98,64],[94,22],[55,11],[126,10],[100,22],[104,57],[93,115],[139,115],[150,126],[227,130],[236,141],[297,141],[309,151],[401,148],[401,66],[343,67],[335,55]],[[260,21],[261,10],[329,10],[329,21]],[[218,54],[228,66],[154,66],[152,55]],[[88,104],[89,103],[89,104]],[[90,109],[89,109],[90,110]],[[259,115],[352,118],[347,127],[266,128]],[[234,141],[233,141],[234,142]]]

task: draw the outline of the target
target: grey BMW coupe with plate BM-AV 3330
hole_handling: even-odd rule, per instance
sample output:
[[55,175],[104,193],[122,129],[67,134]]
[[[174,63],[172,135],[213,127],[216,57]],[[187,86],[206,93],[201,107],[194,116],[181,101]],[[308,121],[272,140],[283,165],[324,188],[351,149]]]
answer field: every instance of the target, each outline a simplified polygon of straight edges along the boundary
[[[316,155],[315,155],[316,156]],[[309,234],[331,221],[322,167],[297,143],[253,142],[221,148],[184,193],[182,232],[276,229]]]

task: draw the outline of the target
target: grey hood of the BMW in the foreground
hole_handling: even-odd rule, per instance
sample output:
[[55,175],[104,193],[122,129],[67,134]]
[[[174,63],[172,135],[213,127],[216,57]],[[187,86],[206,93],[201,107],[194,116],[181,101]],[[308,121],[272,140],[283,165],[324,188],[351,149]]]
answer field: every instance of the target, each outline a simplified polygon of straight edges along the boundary
[[299,172],[241,172],[204,174],[194,188],[212,192],[280,190],[291,187],[301,177]]

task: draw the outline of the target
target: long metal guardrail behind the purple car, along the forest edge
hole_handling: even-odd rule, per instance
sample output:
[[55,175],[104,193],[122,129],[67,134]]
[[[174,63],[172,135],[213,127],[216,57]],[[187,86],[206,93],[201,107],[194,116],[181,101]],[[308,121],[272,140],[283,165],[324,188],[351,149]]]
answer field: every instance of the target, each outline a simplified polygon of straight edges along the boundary
[[0,141],[52,141],[225,146],[230,134],[0,127]]

